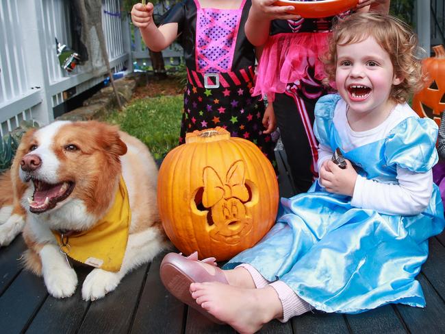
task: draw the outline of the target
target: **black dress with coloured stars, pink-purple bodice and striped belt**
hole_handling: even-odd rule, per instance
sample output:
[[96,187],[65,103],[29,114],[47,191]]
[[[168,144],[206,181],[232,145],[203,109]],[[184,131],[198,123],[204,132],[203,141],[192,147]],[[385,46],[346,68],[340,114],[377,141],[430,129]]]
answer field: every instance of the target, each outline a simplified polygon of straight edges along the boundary
[[262,133],[264,103],[251,95],[255,48],[244,34],[250,7],[250,0],[236,10],[185,0],[166,13],[162,24],[178,23],[188,75],[179,143],[186,132],[220,126],[255,143],[276,167],[275,143]]

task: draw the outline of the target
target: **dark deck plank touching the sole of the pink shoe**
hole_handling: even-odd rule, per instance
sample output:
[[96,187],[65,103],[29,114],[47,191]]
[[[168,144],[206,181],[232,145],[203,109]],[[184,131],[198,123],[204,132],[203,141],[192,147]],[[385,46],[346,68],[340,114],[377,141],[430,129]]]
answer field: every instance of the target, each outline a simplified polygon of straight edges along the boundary
[[155,257],[150,265],[131,334],[172,334],[182,331],[186,305],[165,289],[159,276],[164,254]]

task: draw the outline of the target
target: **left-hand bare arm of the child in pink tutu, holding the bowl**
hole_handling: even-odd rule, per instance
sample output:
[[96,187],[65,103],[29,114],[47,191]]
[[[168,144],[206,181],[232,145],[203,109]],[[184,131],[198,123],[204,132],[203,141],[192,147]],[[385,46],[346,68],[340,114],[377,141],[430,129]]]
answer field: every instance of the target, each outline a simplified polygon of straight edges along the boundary
[[244,26],[246,37],[255,46],[263,45],[269,36],[270,21],[275,19],[296,20],[300,16],[286,13],[294,7],[272,5],[276,0],[252,0],[249,16]]

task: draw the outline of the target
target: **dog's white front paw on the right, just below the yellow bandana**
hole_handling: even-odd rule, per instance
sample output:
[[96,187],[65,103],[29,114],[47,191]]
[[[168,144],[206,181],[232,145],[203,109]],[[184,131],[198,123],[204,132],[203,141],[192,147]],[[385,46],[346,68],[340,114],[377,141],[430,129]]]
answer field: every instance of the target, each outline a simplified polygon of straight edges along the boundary
[[84,300],[97,300],[105,294],[116,289],[120,283],[118,272],[107,272],[102,269],[94,269],[86,276],[82,286],[82,298]]

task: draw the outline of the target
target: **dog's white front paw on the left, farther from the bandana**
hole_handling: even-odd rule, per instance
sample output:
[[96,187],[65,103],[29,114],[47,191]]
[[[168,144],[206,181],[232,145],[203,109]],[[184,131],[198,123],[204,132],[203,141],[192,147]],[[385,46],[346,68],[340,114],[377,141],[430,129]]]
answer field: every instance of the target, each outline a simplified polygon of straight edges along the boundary
[[53,268],[43,277],[49,294],[55,298],[71,297],[76,291],[77,275],[73,268]]

